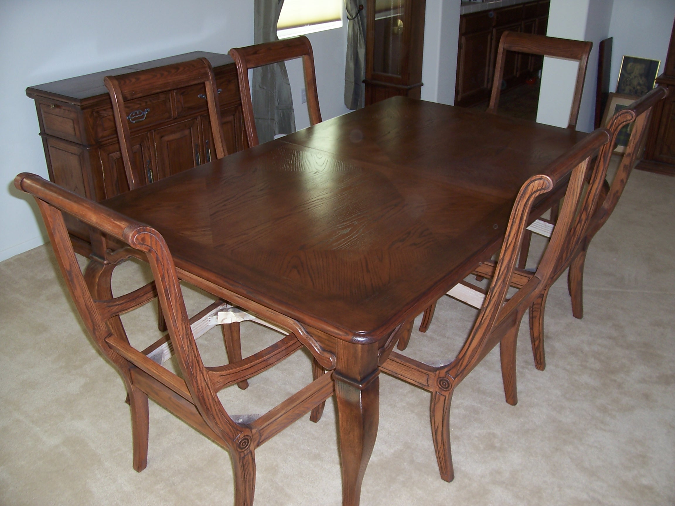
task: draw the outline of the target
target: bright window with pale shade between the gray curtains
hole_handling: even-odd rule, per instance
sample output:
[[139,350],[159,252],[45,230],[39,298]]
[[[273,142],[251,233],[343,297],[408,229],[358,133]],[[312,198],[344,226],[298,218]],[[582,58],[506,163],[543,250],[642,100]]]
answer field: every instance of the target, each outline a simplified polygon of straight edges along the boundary
[[289,38],[332,28],[342,28],[344,0],[284,0],[277,36]]

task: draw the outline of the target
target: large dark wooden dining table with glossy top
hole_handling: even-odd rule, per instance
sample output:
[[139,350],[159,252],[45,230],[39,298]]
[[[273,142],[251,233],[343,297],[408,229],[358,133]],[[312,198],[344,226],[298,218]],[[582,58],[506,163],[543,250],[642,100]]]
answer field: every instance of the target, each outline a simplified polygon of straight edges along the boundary
[[499,249],[524,181],[584,135],[395,96],[103,204],[157,229],[181,279],[290,318],[334,354],[342,504],[355,506],[379,366]]

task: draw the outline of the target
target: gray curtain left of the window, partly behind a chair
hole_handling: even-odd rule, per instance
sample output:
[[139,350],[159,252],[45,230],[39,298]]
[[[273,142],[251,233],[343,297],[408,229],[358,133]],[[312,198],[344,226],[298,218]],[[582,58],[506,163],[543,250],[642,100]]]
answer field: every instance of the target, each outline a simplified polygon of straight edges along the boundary
[[[253,43],[279,40],[277,22],[284,0],[255,0]],[[258,140],[267,142],[277,134],[295,132],[295,115],[286,63],[253,69],[251,82],[253,116]]]

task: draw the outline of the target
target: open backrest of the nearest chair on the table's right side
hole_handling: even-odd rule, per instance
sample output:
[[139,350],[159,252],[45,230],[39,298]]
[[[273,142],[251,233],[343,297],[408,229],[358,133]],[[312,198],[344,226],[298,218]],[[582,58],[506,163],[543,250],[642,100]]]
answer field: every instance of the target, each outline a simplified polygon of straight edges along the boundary
[[[555,267],[560,262],[561,256],[566,254],[565,246],[572,232],[574,217],[583,194],[589,163],[598,149],[602,149],[609,141],[610,134],[607,130],[604,128],[595,130],[553,161],[549,165],[550,175],[534,175],[520,188],[481,311],[462,350],[457,358],[448,364],[448,374],[457,382],[482,360],[506,332],[514,329],[514,325],[517,329],[522,314],[545,289],[555,273]],[[514,272],[516,261],[532,206],[540,196],[558,188],[567,177],[570,179],[560,217],[539,267],[534,275],[523,276],[520,282],[516,283],[521,288],[507,301],[506,295],[512,285],[512,277],[518,275]]]

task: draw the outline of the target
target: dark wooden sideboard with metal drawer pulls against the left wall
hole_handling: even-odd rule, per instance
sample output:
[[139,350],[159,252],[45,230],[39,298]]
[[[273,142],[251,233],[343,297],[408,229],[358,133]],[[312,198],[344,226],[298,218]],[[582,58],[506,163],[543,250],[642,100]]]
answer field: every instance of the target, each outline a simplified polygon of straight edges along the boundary
[[[202,56],[213,65],[227,152],[246,148],[232,58],[194,51],[26,88],[26,94],[35,101],[49,179],[97,202],[128,191],[112,104],[103,78]],[[136,167],[144,167],[146,182],[215,158],[203,86],[155,94],[130,101],[128,107],[136,113],[136,117],[130,115],[134,119],[130,120],[130,133]],[[88,228],[82,223],[69,222],[68,229],[88,242]]]

